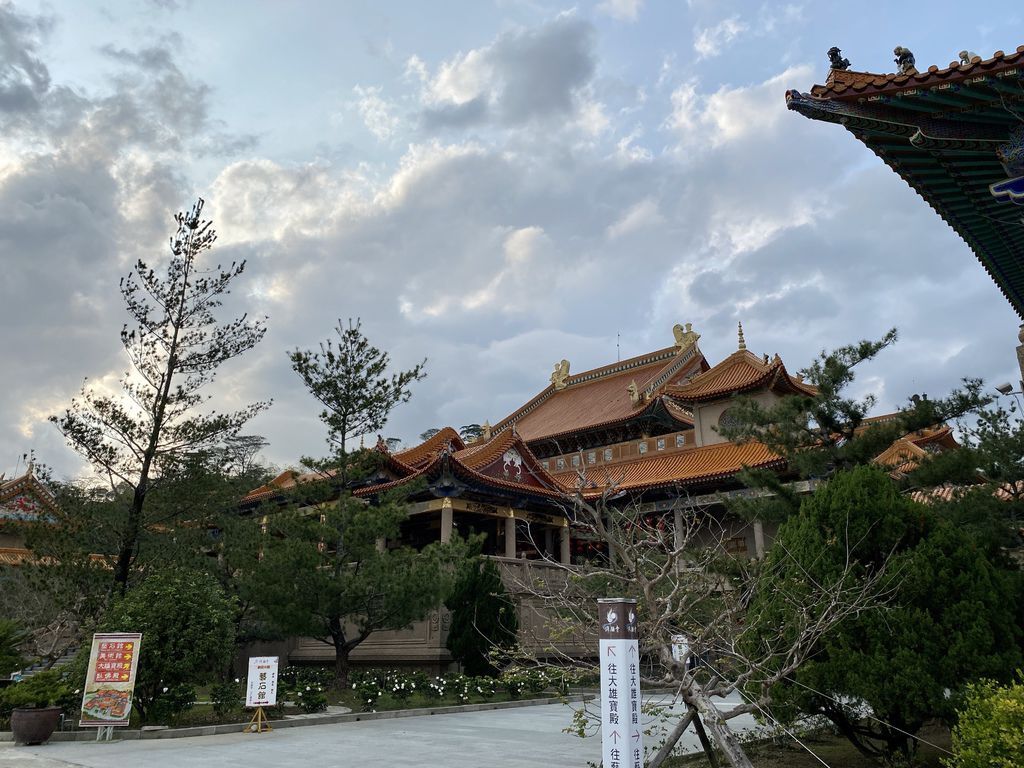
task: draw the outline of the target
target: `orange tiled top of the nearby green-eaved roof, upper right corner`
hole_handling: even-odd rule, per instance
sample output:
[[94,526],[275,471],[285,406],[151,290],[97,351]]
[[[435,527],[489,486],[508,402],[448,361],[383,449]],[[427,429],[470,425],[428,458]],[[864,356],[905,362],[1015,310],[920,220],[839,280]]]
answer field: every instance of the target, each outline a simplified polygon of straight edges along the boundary
[[874,95],[898,93],[908,88],[930,88],[940,83],[956,83],[967,78],[995,74],[1021,63],[1024,63],[1024,45],[1018,46],[1017,50],[1011,53],[997,50],[991,58],[984,60],[981,56],[975,56],[966,65],[950,61],[949,66],[942,70],[935,65],[925,72],[909,74],[879,75],[852,70],[830,70],[825,85],[815,85],[811,88],[811,95],[818,98],[856,101]]

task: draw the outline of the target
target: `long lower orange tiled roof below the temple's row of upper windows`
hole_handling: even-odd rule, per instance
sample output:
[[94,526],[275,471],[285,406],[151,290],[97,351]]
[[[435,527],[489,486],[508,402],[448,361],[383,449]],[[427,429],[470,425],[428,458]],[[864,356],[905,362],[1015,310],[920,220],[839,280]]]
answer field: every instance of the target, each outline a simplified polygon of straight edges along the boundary
[[[692,447],[668,456],[644,456],[607,467],[601,472],[587,472],[584,496],[597,496],[608,485],[620,490],[645,490],[673,485],[694,485],[726,479],[744,467],[782,467],[784,460],[760,442],[720,442]],[[579,472],[554,476],[567,490],[580,487]]]

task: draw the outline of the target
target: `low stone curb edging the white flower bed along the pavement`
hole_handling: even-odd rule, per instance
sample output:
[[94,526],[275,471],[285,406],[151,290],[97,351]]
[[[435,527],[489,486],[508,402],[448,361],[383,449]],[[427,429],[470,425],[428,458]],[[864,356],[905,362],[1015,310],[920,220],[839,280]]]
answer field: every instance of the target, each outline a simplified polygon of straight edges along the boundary
[[[578,693],[568,696],[552,696],[550,698],[524,698],[513,701],[495,701],[494,703],[454,705],[450,707],[421,707],[416,710],[389,710],[387,712],[346,712],[335,715],[303,715],[291,720],[271,720],[273,730],[283,728],[303,728],[308,725],[334,725],[336,723],[357,723],[365,720],[396,720],[398,718],[426,717],[429,715],[458,715],[464,712],[484,712],[489,710],[516,710],[521,707],[538,707],[541,705],[565,703],[569,701],[585,701],[593,698],[592,694]],[[222,725],[200,725],[191,728],[161,728],[159,730],[124,730],[117,731],[115,741],[137,741],[153,738],[190,738],[194,736],[216,736],[221,733],[242,733],[249,728],[249,723],[224,723]],[[0,731],[0,742],[12,741],[10,731]],[[96,734],[88,731],[56,731],[50,741],[95,741]]]

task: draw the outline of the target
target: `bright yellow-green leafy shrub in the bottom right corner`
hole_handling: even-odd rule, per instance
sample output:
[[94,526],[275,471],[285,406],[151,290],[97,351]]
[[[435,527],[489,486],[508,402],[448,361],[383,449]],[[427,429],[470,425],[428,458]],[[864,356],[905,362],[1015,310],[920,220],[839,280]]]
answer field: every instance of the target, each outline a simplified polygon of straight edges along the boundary
[[[1020,674],[1020,673],[1018,673]],[[1000,686],[985,681],[968,688],[953,728],[949,768],[1017,768],[1024,760],[1024,675]]]

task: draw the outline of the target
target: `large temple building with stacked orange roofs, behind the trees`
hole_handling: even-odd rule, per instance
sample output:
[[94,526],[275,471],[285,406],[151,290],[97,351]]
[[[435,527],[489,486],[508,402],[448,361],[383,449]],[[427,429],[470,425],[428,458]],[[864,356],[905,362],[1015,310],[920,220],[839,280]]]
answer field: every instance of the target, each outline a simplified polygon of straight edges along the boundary
[[[742,492],[736,475],[743,468],[784,474],[785,463],[759,443],[730,442],[718,429],[730,423],[730,406],[738,396],[770,404],[815,390],[790,374],[778,355],[749,350],[741,326],[736,351],[715,366],[688,324],[676,326],[673,335],[671,346],[578,374],[561,360],[544,389],[493,427],[484,424],[483,434],[469,444],[451,427],[393,454],[382,440],[376,449],[384,454],[378,475],[353,493],[372,500],[408,485],[403,542],[423,546],[447,541],[456,531],[483,534],[484,554],[496,560],[507,585],[522,584],[526,567],[547,581],[564,579],[565,565],[582,563],[600,549],[574,525],[578,494],[594,499],[613,492],[621,500],[615,503],[662,515],[676,530],[686,507],[699,508],[717,516],[728,552],[761,557],[773,529],[730,519],[723,496]],[[249,494],[243,505],[281,498],[296,484],[317,479],[323,478],[285,472]],[[513,596],[525,634],[543,641],[544,611],[532,605],[536,598]],[[446,629],[446,614],[438,611],[412,630],[375,633],[352,659],[442,667],[449,660]],[[296,638],[280,652],[293,662],[333,657],[312,639]]]

